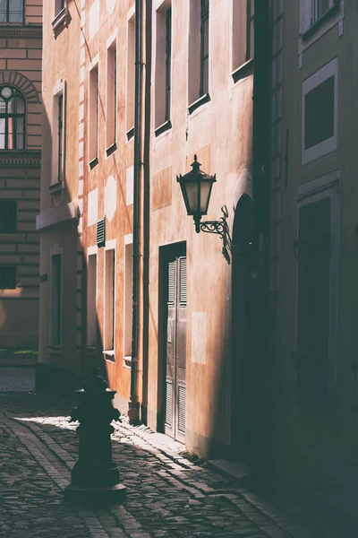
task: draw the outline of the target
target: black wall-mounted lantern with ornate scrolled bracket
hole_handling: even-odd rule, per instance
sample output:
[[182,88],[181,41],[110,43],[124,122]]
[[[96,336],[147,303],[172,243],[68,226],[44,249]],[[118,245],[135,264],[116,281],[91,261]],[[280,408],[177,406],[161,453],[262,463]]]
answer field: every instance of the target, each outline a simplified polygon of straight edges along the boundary
[[203,170],[200,170],[200,162],[194,155],[192,162],[192,170],[184,176],[176,176],[176,181],[182,189],[182,195],[186,208],[186,213],[192,215],[195,222],[195,231],[205,231],[207,233],[216,233],[223,239],[222,254],[226,261],[230,263],[228,250],[231,252],[231,238],[229,227],[226,222],[228,217],[226,205],[223,205],[221,211],[223,216],[218,221],[203,221],[200,222],[202,215],[208,213],[211,189],[213,183],[217,181],[216,175],[209,176]]

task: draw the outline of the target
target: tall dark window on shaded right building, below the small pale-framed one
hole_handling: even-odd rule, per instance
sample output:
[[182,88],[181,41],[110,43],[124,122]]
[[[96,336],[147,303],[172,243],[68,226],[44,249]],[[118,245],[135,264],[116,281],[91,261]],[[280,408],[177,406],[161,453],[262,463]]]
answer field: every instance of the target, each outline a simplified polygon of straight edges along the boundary
[[337,344],[338,179],[329,174],[299,193],[297,251],[297,385],[327,394]]

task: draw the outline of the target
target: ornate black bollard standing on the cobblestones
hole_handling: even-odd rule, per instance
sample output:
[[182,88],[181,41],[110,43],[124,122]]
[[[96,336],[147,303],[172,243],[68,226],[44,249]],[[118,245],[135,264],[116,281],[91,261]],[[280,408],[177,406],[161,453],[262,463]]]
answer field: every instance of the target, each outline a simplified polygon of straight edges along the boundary
[[83,501],[121,501],[126,488],[121,484],[119,471],[112,459],[112,421],[118,421],[120,412],[112,405],[115,390],[92,370],[83,388],[75,390],[79,405],[71,413],[72,421],[79,421],[76,432],[80,437],[79,459],[71,473],[71,484],[64,490],[64,499]]

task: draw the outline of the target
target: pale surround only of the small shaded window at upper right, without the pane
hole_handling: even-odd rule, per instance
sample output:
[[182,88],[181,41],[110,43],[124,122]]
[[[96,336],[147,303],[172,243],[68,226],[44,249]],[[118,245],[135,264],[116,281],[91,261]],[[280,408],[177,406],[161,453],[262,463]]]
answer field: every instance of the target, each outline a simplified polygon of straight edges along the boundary
[[[325,82],[331,76],[335,77],[334,81],[334,128],[333,135],[323,140],[320,143],[317,143],[310,148],[304,149],[305,140],[305,96],[310,91],[314,90],[322,82]],[[328,62],[328,64],[323,65],[318,71],[311,74],[307,77],[302,83],[302,164],[305,165],[308,162],[315,161],[324,155],[327,155],[330,152],[335,152],[337,150],[337,131],[338,131],[338,57],[336,56]]]

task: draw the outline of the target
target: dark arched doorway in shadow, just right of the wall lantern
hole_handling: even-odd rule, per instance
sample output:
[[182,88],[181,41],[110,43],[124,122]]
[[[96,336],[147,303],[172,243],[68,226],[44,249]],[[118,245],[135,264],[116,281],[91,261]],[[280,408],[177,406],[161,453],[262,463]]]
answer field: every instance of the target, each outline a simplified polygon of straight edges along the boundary
[[235,210],[232,269],[231,455],[250,464],[254,443],[255,372],[252,357],[252,202]]

